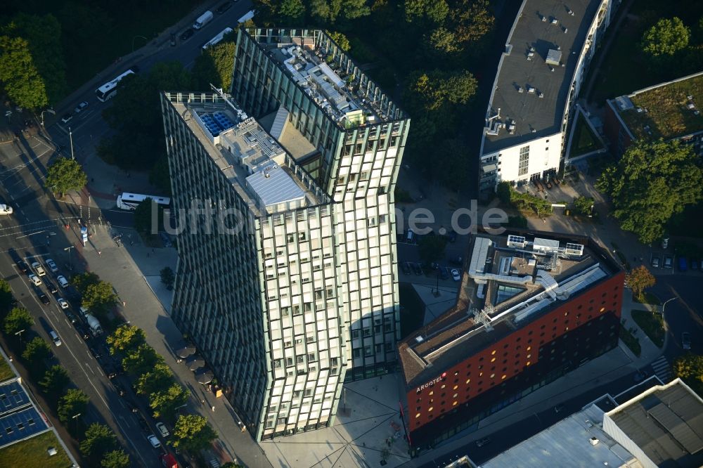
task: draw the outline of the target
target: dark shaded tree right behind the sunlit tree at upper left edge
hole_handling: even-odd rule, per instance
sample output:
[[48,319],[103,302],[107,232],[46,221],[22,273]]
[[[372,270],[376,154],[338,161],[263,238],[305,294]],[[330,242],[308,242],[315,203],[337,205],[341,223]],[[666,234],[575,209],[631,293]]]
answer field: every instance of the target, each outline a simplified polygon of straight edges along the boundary
[[61,44],[61,25],[54,15],[18,13],[6,28],[8,33],[27,39],[32,61],[44,82],[49,103],[58,103],[67,92],[66,63]]

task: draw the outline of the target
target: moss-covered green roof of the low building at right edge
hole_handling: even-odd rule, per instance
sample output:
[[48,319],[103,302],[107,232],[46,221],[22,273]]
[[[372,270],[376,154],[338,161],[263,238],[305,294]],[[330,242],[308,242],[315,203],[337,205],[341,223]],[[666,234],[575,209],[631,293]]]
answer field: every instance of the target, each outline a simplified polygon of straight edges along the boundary
[[703,72],[611,100],[635,138],[669,140],[703,131]]

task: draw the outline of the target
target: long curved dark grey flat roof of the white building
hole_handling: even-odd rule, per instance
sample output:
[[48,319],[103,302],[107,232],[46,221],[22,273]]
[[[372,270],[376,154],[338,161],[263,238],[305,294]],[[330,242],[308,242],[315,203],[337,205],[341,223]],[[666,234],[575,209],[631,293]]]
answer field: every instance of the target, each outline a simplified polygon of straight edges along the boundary
[[498,65],[484,154],[560,132],[576,62],[599,4],[525,2]]

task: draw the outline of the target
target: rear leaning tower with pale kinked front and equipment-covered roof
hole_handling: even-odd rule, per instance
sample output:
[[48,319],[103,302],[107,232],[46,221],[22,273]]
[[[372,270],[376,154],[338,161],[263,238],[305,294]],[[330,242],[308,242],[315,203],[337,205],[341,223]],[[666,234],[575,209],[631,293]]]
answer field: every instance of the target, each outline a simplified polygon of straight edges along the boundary
[[[298,46],[309,61],[298,70],[331,70],[335,90],[346,99],[342,105],[356,103],[357,110],[330,110],[330,93],[318,98],[321,87],[309,86],[310,77],[303,80],[286,66],[291,52],[281,51],[289,46]],[[298,162],[335,202],[342,306],[350,330],[347,380],[394,368],[400,316],[393,192],[410,119],[319,30],[240,29],[231,92],[255,117],[285,108],[288,125],[316,148]]]

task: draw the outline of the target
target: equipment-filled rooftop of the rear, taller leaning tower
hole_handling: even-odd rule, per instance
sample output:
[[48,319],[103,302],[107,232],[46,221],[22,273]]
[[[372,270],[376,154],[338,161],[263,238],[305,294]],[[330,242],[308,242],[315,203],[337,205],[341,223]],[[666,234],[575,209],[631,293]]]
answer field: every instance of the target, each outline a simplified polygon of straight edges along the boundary
[[247,34],[342,129],[406,115],[320,30],[261,30]]

